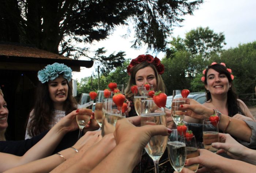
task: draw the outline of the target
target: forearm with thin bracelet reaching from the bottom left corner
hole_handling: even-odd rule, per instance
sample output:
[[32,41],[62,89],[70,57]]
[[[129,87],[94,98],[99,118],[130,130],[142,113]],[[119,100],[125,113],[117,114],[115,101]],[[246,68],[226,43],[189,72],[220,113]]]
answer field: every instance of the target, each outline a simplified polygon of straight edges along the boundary
[[[62,156],[67,160],[68,158],[73,157],[76,152],[71,149],[65,149],[60,152]],[[33,173],[33,172],[50,172],[52,169],[54,169],[56,166],[63,163],[65,160],[60,157],[57,154],[54,154],[52,156],[36,160],[33,162],[29,162],[24,165],[17,166],[15,168],[9,169],[6,171],[6,173],[15,173],[15,172],[26,172],[26,173]]]

